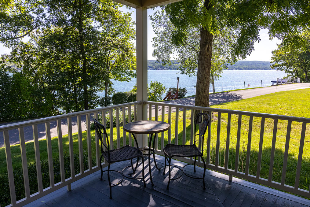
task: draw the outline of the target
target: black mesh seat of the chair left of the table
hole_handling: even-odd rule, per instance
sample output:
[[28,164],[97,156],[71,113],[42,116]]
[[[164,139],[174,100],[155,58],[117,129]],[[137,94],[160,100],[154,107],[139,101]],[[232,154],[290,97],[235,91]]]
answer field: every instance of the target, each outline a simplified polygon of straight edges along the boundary
[[104,151],[103,156],[109,163],[113,163],[131,160],[133,158],[143,156],[143,154],[138,148],[126,145],[118,149],[110,150],[110,157],[108,157],[108,151]]

